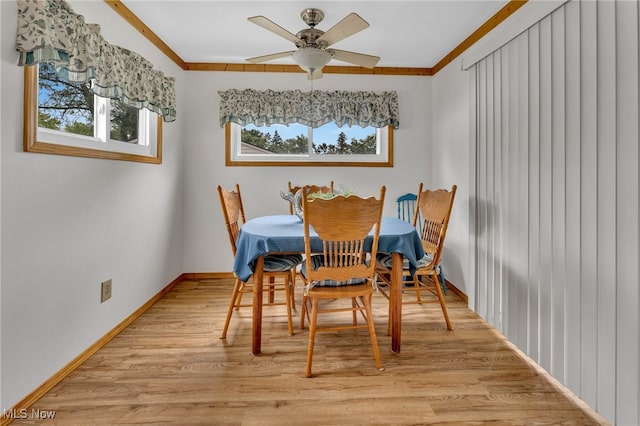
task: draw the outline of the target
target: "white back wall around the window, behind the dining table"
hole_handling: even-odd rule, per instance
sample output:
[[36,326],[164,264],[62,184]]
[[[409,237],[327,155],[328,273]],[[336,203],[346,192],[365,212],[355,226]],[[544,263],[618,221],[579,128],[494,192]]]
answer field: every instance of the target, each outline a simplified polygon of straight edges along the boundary
[[185,271],[228,272],[233,258],[216,186],[240,184],[248,218],[288,214],[280,197],[287,182],[328,183],[377,194],[386,185],[385,214],[395,215],[395,199],[416,192],[421,181],[431,184],[431,79],[325,74],[316,90],[395,90],[400,126],[394,132],[395,167],[225,167],[224,128],[219,124],[218,90],[309,90],[304,74],[188,72],[185,169]]

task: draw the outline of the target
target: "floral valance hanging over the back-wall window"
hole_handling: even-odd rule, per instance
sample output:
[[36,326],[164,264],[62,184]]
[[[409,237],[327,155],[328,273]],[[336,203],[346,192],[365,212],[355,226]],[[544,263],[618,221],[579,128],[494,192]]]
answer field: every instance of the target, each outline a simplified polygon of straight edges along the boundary
[[218,94],[220,126],[225,123],[242,126],[300,123],[316,128],[335,121],[340,127],[355,124],[398,128],[400,124],[396,92],[231,89]]

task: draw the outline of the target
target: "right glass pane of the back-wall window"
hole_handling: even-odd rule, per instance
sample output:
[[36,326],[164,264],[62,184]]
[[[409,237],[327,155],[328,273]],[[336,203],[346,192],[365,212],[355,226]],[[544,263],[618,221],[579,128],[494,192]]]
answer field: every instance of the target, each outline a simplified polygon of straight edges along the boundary
[[313,129],[314,154],[376,154],[375,127],[344,126],[327,123]]

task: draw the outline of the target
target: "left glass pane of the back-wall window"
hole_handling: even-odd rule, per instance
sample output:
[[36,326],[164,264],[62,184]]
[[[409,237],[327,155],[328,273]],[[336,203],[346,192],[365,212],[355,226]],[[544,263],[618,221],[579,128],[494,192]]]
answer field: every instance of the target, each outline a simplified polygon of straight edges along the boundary
[[256,127],[249,124],[242,128],[241,154],[307,154],[309,139],[307,126],[302,124],[273,124]]

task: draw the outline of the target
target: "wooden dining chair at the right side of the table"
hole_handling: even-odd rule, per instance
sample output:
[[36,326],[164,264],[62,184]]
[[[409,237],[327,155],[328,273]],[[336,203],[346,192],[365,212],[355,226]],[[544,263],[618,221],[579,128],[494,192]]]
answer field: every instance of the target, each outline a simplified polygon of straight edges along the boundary
[[[450,191],[446,189],[438,189],[435,191],[427,189],[423,191],[422,188],[423,185],[421,183],[418,190],[417,209],[414,213],[413,224],[414,226],[416,225],[418,216],[420,215],[422,218],[420,239],[422,240],[422,247],[426,254],[422,259],[418,260],[418,268],[413,275],[409,271],[408,262],[405,261],[403,268],[404,284],[405,286],[413,285],[416,299],[413,301],[403,300],[403,303],[440,303],[447,329],[452,330],[453,326],[449,319],[442,283],[440,282],[439,265],[457,186],[453,185]],[[378,279],[381,281],[381,285],[379,286],[380,292],[387,298],[389,298],[389,295],[385,287],[391,285],[391,256],[391,254],[387,253],[378,253],[376,259]],[[436,299],[424,299],[421,296],[424,290],[431,292],[436,296]],[[407,291],[411,290],[407,287]]]

